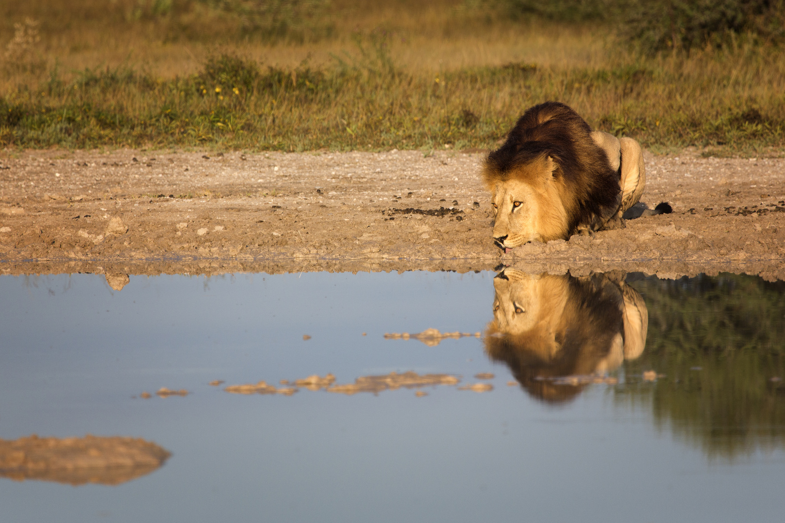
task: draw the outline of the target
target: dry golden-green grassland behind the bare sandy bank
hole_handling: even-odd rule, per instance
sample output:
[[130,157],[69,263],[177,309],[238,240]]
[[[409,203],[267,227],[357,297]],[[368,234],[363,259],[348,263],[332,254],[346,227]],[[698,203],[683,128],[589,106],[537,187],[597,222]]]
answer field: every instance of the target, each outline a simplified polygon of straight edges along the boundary
[[[0,145],[489,147],[545,100],[657,151],[785,145],[780,49],[646,57],[604,27],[512,22],[465,2],[314,4],[318,16],[272,35],[206,0],[9,2],[0,51],[26,19],[40,39],[0,63]],[[242,96],[204,74],[221,55],[261,64]]]

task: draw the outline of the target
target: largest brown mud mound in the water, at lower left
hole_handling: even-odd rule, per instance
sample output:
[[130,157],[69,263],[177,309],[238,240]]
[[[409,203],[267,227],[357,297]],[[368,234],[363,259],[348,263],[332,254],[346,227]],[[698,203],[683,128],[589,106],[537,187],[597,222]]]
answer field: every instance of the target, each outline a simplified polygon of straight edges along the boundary
[[141,438],[38,438],[0,440],[0,477],[70,485],[119,485],[161,467],[170,452]]

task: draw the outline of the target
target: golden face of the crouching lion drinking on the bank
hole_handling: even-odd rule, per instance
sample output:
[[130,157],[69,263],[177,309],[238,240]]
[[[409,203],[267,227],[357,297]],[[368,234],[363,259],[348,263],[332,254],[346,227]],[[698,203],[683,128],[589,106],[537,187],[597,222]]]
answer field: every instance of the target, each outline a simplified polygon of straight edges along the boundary
[[493,184],[493,238],[499,248],[513,249],[527,242],[550,242],[566,236],[568,218],[562,183],[553,176],[555,169],[553,160],[546,158],[509,180]]

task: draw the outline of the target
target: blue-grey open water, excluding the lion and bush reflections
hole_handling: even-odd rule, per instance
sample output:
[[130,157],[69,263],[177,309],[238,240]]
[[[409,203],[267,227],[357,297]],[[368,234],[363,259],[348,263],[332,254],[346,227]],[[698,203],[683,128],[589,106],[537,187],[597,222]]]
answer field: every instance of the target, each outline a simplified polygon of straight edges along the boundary
[[[385,340],[484,332],[494,275],[131,276],[122,291],[101,275],[2,276],[0,438],[133,436],[173,456],[117,486],[0,478],[0,521],[783,521],[785,429],[739,452],[685,437],[658,415],[666,379],[628,385],[646,353],[612,369],[619,384],[550,402],[507,385],[483,340]],[[657,282],[640,281],[653,311]],[[495,388],[223,390],[408,370],[493,372]],[[138,398],[160,387],[191,394]]]

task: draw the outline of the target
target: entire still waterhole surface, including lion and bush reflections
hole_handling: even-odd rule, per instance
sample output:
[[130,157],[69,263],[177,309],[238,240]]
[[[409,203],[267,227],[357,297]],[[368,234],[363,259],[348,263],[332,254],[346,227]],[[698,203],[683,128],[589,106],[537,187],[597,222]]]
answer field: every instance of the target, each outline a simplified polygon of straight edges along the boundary
[[[783,290],[514,270],[121,291],[2,276],[0,519],[783,521]],[[171,456],[113,481],[31,479],[2,445],[32,434]]]

